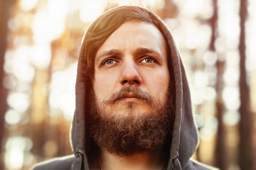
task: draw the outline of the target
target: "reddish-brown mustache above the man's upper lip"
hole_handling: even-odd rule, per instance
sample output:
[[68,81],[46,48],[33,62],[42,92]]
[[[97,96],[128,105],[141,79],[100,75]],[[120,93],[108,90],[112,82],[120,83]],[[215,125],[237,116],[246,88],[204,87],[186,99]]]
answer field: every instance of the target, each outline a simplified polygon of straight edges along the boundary
[[108,98],[107,100],[103,101],[103,103],[114,103],[119,99],[127,97],[127,94],[132,94],[134,98],[139,98],[146,103],[151,104],[153,102],[153,97],[146,91],[141,91],[134,86],[126,86],[120,89],[119,91],[115,92]]

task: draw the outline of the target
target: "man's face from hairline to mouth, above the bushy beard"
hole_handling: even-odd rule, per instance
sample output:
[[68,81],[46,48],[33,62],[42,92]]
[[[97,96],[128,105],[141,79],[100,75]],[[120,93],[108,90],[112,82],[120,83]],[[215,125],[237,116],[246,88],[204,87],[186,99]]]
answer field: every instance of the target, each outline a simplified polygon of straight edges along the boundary
[[123,23],[97,51],[94,76],[101,117],[157,113],[170,83],[163,35],[151,23]]

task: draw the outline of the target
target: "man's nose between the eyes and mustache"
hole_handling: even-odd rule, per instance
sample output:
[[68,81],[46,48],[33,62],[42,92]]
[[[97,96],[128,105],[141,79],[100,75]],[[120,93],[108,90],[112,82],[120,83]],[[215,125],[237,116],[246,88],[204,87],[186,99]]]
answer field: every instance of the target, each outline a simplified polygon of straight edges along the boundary
[[124,63],[122,74],[120,76],[120,84],[136,86],[142,84],[142,77],[140,77],[137,65],[134,62]]

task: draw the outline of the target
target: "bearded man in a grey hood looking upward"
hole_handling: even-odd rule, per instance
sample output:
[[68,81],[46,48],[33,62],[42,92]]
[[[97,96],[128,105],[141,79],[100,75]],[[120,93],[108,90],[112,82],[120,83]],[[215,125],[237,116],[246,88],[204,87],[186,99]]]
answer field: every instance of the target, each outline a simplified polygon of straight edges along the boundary
[[35,169],[211,169],[198,143],[178,50],[150,11],[102,14],[82,40],[72,127],[74,156]]

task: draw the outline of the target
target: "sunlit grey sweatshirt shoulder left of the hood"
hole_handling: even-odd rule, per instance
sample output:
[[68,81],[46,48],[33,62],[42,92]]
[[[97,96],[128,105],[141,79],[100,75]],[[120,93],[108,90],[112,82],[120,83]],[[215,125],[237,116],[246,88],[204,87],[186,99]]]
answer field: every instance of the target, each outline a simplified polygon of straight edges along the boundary
[[73,164],[74,155],[68,155],[65,157],[58,157],[55,159],[50,159],[45,162],[38,163],[33,166],[33,170],[70,170]]

